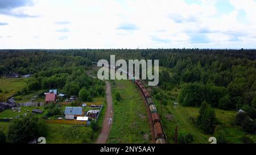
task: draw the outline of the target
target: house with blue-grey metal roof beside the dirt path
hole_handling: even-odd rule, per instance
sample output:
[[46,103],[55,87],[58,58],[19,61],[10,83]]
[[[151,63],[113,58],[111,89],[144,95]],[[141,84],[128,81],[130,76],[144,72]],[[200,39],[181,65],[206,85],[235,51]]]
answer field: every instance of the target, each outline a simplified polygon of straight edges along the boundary
[[84,116],[84,110],[82,107],[66,107],[65,119],[76,119],[77,116]]

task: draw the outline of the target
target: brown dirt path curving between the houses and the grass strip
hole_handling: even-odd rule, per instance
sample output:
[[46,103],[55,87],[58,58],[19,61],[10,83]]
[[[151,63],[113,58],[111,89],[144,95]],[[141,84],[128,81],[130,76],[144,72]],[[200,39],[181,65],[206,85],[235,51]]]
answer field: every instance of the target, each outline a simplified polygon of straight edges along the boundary
[[106,99],[107,99],[107,109],[103,120],[103,126],[101,129],[101,133],[98,136],[96,144],[105,144],[109,138],[110,128],[112,126],[113,121],[113,102],[112,102],[112,95],[111,95],[111,86],[108,81],[106,83]]

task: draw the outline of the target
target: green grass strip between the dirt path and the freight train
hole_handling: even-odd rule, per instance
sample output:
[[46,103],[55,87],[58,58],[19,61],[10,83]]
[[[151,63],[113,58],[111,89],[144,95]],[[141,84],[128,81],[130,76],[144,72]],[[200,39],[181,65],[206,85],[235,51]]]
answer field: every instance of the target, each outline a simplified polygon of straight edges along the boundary
[[[114,118],[107,143],[150,143],[150,125],[137,87],[128,80],[112,82]],[[122,100],[115,101],[115,93]]]

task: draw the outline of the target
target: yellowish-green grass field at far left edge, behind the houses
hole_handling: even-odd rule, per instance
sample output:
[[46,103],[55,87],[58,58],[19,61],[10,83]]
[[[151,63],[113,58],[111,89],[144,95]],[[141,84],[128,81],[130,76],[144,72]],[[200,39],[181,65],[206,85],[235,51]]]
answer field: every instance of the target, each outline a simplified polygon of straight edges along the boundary
[[28,78],[0,78],[0,100],[5,101],[6,98],[21,90]]

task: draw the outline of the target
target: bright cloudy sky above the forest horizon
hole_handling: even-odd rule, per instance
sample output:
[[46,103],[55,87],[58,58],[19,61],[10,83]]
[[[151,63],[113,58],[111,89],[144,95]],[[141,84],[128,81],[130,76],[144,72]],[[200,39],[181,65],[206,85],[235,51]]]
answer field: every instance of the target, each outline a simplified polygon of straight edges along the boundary
[[256,0],[0,0],[0,49],[256,48]]

